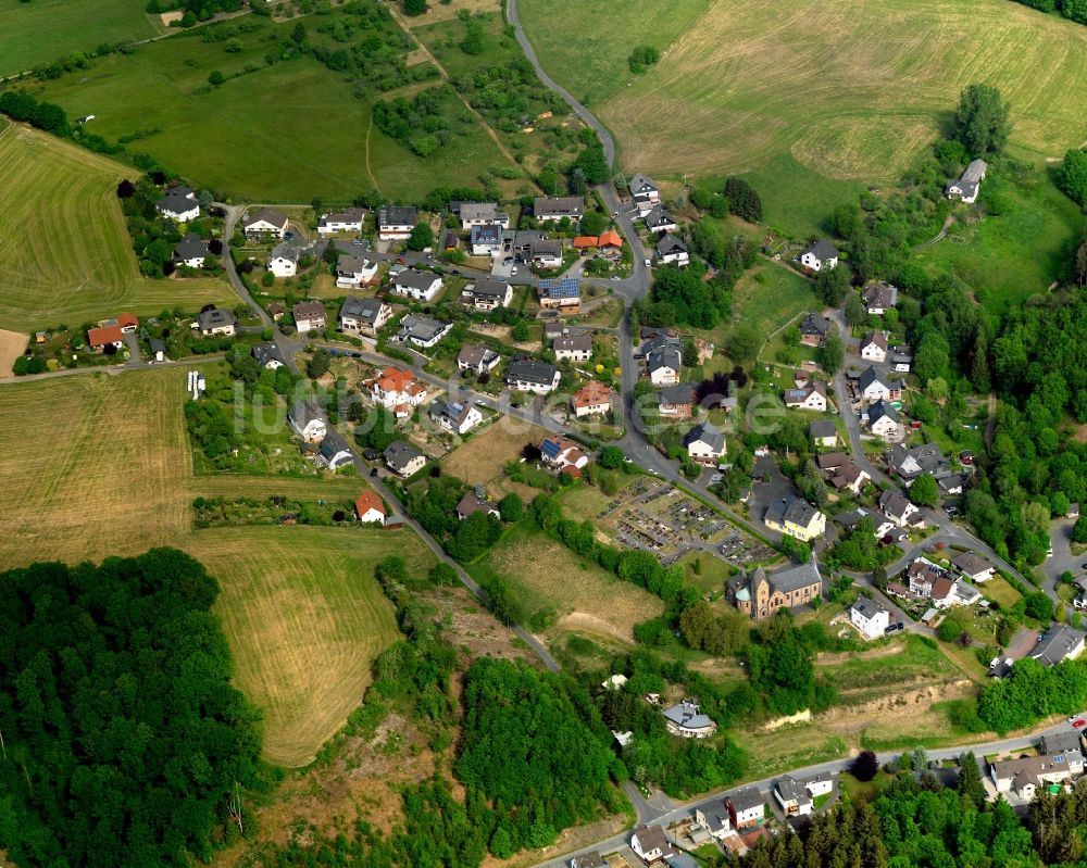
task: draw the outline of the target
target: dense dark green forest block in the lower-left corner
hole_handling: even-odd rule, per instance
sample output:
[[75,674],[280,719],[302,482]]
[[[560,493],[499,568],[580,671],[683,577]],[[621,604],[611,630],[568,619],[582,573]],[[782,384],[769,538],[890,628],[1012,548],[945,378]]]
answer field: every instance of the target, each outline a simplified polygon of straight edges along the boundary
[[0,847],[21,865],[208,860],[257,783],[214,578],[172,549],[0,575]]

